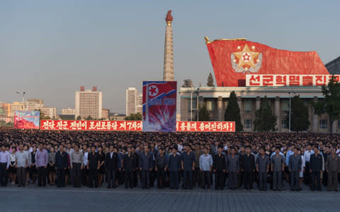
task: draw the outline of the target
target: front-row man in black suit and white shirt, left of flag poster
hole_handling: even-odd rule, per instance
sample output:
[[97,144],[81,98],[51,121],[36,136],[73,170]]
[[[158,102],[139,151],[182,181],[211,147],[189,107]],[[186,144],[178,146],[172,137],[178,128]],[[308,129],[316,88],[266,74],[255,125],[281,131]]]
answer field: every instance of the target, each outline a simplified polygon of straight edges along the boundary
[[115,188],[115,172],[118,170],[118,153],[114,149],[113,145],[110,145],[110,152],[106,153],[105,167],[108,176],[108,189]]

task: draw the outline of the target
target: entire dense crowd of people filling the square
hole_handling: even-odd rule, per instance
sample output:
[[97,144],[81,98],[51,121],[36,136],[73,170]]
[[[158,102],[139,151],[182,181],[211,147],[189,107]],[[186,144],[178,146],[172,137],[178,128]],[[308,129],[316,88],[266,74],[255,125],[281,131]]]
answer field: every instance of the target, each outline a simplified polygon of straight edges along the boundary
[[306,184],[312,191],[338,191],[339,140],[323,133],[0,128],[0,183],[274,191],[300,191]]

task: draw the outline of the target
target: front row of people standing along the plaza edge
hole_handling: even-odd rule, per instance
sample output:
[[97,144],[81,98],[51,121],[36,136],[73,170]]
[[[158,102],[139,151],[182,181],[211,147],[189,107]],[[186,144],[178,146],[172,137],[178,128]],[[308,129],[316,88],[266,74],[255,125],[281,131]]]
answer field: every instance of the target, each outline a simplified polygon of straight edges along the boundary
[[[8,178],[4,176],[8,168],[15,167],[18,186],[25,186],[28,166],[31,166],[37,170],[39,186],[46,185],[47,173],[52,184],[56,173],[59,187],[67,184],[66,177],[69,175],[75,187],[81,186],[84,177],[89,179],[90,187],[98,187],[103,182],[100,178],[106,176],[108,188],[114,188],[119,184],[118,178],[123,176],[125,188],[137,186],[138,178],[142,188],[149,188],[157,178],[159,188],[170,186],[171,189],[179,189],[183,179],[183,189],[192,189],[197,184],[204,189],[210,189],[215,174],[215,189],[224,189],[227,179],[227,186],[230,189],[237,189],[242,176],[244,189],[253,189],[254,179],[257,178],[259,189],[266,190],[268,172],[271,172],[273,189],[281,190],[285,163],[288,163],[292,191],[300,191],[301,174],[310,174],[312,190],[321,190],[320,175],[324,164],[328,173],[329,190],[338,190],[337,175],[340,169],[339,157],[336,156],[335,149],[331,149],[330,156],[324,162],[324,156],[318,153],[317,147],[310,152],[310,158],[307,158],[309,161],[305,160],[306,152],[300,155],[300,150],[297,148],[287,152],[285,158],[279,147],[270,157],[266,155],[264,149],[260,149],[259,154],[255,155],[249,146],[245,148],[243,154],[233,147],[230,147],[229,152],[223,151],[223,147],[217,147],[217,152],[214,153],[209,150],[209,147],[204,147],[202,150],[196,146],[195,150],[191,150],[189,145],[185,145],[183,151],[178,151],[176,146],[171,147],[169,152],[165,152],[162,146],[157,150],[154,147],[149,149],[145,145],[142,147],[143,150],[137,149],[137,151],[135,147],[128,146],[124,154],[118,152],[117,147],[113,145],[110,145],[106,154],[100,147],[95,146],[92,146],[89,152],[87,147],[81,150],[77,145],[74,145],[74,148],[65,148],[63,145],[57,148],[58,152],[55,152],[52,147],[47,153],[41,143],[37,151],[28,152],[26,147],[20,145],[18,152],[14,150],[10,154],[6,152],[4,146],[1,147],[1,185],[7,183]],[[12,157],[13,154],[16,157]],[[13,158],[16,160],[13,161]],[[304,168],[307,162],[309,169]],[[8,171],[11,172],[11,169]]]

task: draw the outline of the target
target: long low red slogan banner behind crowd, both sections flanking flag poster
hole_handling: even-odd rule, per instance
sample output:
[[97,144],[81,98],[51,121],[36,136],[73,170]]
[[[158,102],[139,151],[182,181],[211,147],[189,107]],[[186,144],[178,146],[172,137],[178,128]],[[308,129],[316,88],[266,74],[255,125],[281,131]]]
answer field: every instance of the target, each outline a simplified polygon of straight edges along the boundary
[[[63,121],[41,120],[41,130],[142,131],[142,121]],[[235,132],[234,121],[177,121],[176,131]]]

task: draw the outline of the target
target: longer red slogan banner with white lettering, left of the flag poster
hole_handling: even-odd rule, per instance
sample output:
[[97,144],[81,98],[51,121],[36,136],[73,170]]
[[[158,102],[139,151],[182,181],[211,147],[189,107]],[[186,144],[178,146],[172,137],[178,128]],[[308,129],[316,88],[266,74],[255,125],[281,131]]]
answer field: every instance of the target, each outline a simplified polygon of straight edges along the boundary
[[41,130],[142,130],[142,121],[41,120]]

